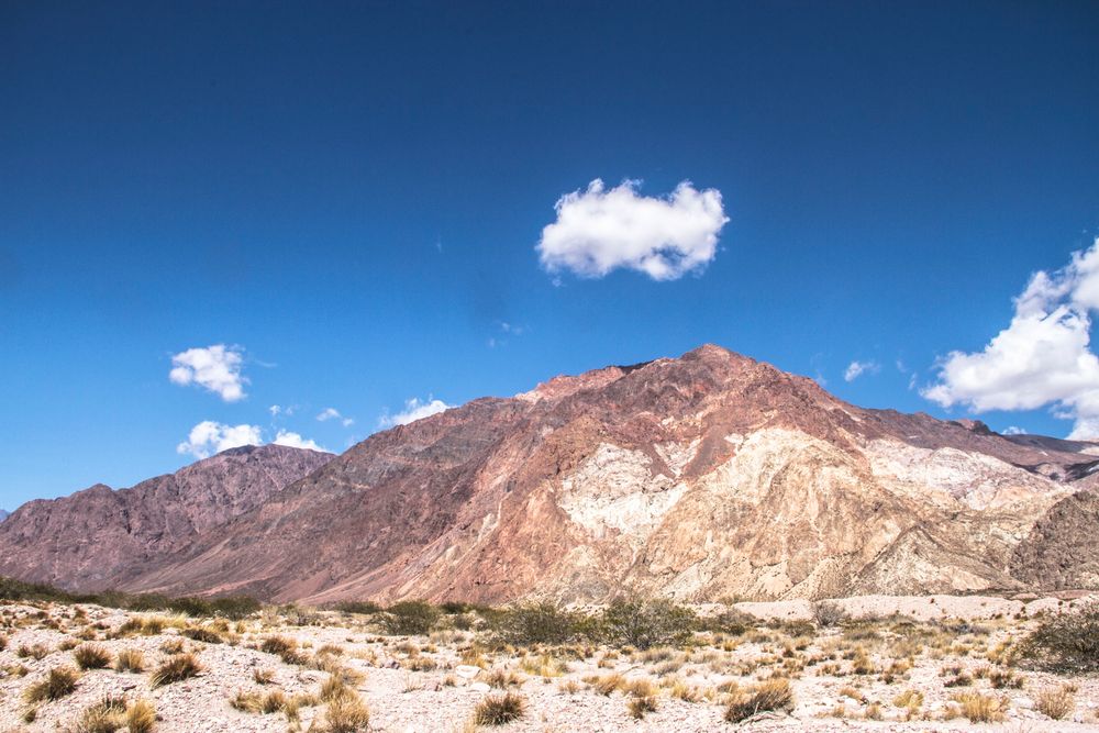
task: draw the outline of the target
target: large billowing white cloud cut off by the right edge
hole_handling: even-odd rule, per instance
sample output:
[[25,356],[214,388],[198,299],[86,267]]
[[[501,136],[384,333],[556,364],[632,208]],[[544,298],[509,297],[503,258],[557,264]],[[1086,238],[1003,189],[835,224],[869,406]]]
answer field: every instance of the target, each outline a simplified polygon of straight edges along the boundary
[[1099,435],[1099,357],[1090,348],[1090,312],[1099,309],[1099,238],[1054,273],[1035,273],[1015,313],[980,352],[951,352],[936,384],[921,395],[975,412],[1052,406],[1075,421],[1069,437]]

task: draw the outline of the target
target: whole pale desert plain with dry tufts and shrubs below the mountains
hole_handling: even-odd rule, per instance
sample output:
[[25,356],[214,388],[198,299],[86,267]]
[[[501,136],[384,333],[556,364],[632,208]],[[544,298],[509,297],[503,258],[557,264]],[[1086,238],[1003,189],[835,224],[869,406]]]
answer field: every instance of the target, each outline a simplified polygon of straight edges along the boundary
[[610,641],[591,641],[599,609],[534,604],[230,620],[7,601],[0,731],[1099,731],[1094,656],[1028,651],[1097,600],[637,603]]

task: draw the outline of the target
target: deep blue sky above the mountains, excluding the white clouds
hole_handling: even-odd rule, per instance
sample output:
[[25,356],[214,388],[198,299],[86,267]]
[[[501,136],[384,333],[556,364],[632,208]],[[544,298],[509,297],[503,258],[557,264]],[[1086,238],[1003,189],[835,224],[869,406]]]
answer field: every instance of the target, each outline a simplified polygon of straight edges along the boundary
[[[342,451],[413,398],[704,342],[1068,434],[1083,398],[921,389],[1079,275],[1097,32],[1088,2],[5,3],[0,507],[174,470],[204,421]],[[675,279],[547,271],[595,179],[729,221]],[[169,379],[218,344],[241,399]]]

